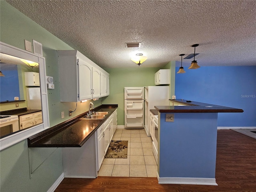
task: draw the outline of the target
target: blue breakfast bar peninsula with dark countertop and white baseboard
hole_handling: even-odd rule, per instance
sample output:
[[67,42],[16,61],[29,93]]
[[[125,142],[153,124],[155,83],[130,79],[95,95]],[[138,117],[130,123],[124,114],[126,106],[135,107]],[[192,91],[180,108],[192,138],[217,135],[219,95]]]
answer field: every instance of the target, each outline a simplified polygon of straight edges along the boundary
[[158,111],[158,182],[217,185],[217,120],[242,109],[189,100],[170,100]]

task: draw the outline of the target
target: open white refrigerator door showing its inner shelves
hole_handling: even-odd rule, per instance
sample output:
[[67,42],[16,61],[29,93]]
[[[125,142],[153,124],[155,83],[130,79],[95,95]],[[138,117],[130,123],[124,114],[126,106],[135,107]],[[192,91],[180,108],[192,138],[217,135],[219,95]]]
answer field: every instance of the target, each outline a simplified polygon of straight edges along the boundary
[[143,128],[144,87],[124,88],[124,127]]

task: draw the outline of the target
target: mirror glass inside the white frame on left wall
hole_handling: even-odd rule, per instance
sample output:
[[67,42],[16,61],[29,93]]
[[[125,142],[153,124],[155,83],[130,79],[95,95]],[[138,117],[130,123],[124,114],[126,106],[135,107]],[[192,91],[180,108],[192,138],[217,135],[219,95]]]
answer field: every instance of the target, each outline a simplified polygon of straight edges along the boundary
[[42,124],[38,63],[0,53],[0,138]]

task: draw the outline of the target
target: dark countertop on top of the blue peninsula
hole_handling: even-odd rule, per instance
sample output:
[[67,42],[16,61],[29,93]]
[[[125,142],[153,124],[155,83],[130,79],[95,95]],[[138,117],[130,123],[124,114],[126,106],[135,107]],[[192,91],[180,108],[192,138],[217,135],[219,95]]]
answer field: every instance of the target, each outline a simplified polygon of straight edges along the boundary
[[[223,112],[244,112],[242,109],[188,101],[182,99],[170,99],[172,102],[178,102],[181,105],[188,106],[155,106],[160,113],[223,113]],[[187,102],[188,101],[188,102]]]

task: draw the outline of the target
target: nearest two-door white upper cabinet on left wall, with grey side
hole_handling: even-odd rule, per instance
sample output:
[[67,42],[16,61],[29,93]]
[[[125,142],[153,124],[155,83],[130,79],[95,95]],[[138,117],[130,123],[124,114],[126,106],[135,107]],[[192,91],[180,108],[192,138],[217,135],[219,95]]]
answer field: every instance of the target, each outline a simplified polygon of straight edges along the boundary
[[[58,50],[60,101],[99,98],[102,68],[76,50]],[[105,72],[107,73],[107,72]]]

